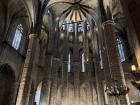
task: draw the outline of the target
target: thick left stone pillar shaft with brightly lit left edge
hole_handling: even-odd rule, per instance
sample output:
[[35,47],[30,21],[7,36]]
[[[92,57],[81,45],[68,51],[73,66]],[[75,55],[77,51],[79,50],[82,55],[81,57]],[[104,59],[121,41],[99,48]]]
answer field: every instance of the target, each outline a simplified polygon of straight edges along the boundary
[[16,105],[28,105],[29,86],[31,84],[32,65],[34,61],[34,54],[36,51],[37,34],[29,35],[29,45],[27,49],[26,59],[21,75],[21,81],[17,96]]

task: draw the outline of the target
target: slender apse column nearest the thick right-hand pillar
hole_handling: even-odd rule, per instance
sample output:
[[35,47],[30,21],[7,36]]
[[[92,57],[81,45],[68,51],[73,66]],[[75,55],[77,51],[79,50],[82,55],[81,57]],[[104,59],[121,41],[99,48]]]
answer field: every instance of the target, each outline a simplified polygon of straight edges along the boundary
[[[98,26],[97,26],[98,27]],[[100,31],[98,29],[98,31]],[[100,32],[98,32],[100,34]],[[101,71],[100,68],[100,55],[99,55],[99,46],[100,46],[100,39],[99,35],[95,30],[93,31],[92,35],[92,47],[93,47],[93,62],[94,62],[94,69],[95,69],[95,81],[96,81],[96,90],[97,90],[97,98],[98,98],[98,104],[104,105],[105,99],[104,99],[104,88],[103,88],[103,71]]]

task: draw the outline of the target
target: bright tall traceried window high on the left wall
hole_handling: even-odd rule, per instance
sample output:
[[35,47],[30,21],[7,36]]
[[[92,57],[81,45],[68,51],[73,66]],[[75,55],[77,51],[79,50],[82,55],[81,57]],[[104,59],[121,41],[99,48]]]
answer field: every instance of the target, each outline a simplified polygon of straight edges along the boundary
[[12,47],[14,47],[16,50],[19,49],[22,33],[23,33],[23,27],[22,27],[21,24],[19,24],[17,26],[15,36],[14,36],[14,39],[13,39],[13,42],[12,42]]

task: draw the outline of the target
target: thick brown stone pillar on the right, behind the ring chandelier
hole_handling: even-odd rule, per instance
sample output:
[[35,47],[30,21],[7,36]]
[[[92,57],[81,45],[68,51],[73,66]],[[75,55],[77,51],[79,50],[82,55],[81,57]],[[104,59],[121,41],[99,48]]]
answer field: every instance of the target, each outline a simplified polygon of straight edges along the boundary
[[[107,20],[111,20],[111,13],[108,9],[107,11]],[[124,73],[122,66],[120,64],[116,36],[113,32],[113,22],[106,22],[101,26],[103,31],[102,36],[102,53],[104,61],[104,74],[107,87],[113,86],[114,80],[121,86],[126,86]],[[129,100],[127,95],[121,96],[108,96],[109,105],[129,105]]]

